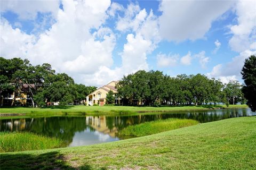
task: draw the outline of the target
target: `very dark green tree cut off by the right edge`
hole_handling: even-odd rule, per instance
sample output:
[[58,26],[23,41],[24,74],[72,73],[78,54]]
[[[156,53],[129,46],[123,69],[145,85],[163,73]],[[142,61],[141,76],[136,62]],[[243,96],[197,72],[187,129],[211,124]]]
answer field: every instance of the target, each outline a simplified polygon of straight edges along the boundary
[[252,55],[245,60],[242,69],[243,80],[245,86],[242,91],[247,99],[247,105],[253,112],[256,111],[256,56]]

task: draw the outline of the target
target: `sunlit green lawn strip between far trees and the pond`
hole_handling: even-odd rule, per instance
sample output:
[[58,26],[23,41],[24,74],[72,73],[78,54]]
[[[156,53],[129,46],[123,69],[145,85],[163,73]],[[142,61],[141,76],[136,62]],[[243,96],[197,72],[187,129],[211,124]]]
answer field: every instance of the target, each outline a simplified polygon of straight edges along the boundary
[[[245,108],[247,105],[229,105],[229,108]],[[126,114],[135,112],[154,112],[154,111],[190,111],[213,108],[227,108],[226,105],[201,105],[201,106],[173,106],[173,107],[135,107],[135,106],[51,106],[46,108],[30,107],[8,107],[1,108],[0,113],[16,113],[26,115],[45,115],[45,114]]]

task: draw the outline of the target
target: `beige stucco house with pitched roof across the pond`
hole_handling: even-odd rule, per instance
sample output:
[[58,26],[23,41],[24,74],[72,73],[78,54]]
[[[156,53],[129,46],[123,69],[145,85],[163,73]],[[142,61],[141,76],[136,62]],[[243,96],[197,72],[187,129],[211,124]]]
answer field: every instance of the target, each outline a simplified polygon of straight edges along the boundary
[[[114,92],[114,94],[117,93],[117,89],[115,88],[116,83],[118,81],[111,81],[105,86],[102,86],[98,88],[97,90],[93,91],[90,95],[86,96],[86,105],[87,106],[93,106],[94,104],[99,104],[100,106],[103,106],[106,104],[106,97],[110,90]],[[115,103],[119,103],[119,98],[116,98]]]

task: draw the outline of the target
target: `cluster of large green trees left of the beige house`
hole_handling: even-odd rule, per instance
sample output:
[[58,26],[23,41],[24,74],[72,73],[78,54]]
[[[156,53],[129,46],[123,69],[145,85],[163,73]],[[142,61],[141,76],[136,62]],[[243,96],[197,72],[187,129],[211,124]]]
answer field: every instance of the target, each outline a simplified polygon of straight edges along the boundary
[[[66,73],[55,73],[50,64],[33,66],[21,58],[5,59],[0,57],[0,92],[3,96],[21,90],[26,84],[28,98],[33,107],[45,106],[58,101],[60,105],[79,104],[96,87],[76,84]],[[21,84],[21,86],[20,86]],[[15,96],[13,97],[15,98]]]

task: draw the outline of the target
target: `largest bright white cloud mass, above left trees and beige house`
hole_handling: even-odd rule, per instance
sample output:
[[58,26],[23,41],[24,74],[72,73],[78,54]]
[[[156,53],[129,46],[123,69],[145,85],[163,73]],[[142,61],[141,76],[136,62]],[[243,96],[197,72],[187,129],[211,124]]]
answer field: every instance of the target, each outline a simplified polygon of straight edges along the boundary
[[[63,11],[59,9],[56,22],[37,40],[1,22],[1,32],[5,32],[1,34],[1,56],[28,58],[32,64],[50,63],[76,82],[87,83],[102,67],[113,64],[115,35],[110,29],[101,27],[108,17],[109,6],[110,1],[97,4],[63,1]],[[96,29],[94,33],[90,32],[92,28]],[[81,80],[81,75],[88,75],[88,79]]]

